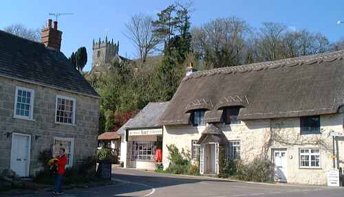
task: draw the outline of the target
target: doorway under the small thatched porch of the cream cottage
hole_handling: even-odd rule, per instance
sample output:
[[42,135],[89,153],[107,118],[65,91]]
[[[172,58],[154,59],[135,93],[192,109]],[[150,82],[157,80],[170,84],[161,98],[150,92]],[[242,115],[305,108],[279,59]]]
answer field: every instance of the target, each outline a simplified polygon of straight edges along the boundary
[[204,145],[204,172],[206,174],[216,174],[215,154],[215,143],[207,143]]

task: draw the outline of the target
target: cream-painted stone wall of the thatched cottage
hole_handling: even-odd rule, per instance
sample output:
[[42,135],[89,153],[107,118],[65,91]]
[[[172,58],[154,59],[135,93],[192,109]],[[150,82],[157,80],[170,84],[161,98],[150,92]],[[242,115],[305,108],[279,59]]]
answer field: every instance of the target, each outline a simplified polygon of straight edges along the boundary
[[[241,124],[225,126],[222,128],[228,141],[239,140],[241,143],[241,159],[244,162],[252,161],[255,157],[264,154],[270,133],[274,130],[278,133],[278,139],[270,146],[266,155],[272,159],[274,149],[287,150],[287,181],[288,183],[304,183],[311,185],[326,185],[326,172],[332,168],[332,137],[331,130],[343,133],[343,114],[321,115],[321,134],[300,135],[299,118],[288,119],[261,119],[253,121],[241,121]],[[166,148],[169,144],[175,144],[178,148],[191,151],[191,140],[200,139],[205,126],[164,126],[163,139],[163,163],[168,163],[169,152]],[[344,133],[343,133],[344,135]],[[321,154],[321,167],[318,169],[304,169],[299,167],[299,148],[319,148]],[[339,143],[339,159],[344,161],[344,142]],[[344,165],[340,164],[340,167]]]

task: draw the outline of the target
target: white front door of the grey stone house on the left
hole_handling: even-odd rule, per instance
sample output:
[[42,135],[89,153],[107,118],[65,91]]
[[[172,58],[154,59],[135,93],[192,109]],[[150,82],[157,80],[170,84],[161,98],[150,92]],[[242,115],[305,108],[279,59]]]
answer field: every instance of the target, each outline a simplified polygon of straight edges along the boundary
[[29,176],[30,135],[12,133],[10,167],[19,176]]

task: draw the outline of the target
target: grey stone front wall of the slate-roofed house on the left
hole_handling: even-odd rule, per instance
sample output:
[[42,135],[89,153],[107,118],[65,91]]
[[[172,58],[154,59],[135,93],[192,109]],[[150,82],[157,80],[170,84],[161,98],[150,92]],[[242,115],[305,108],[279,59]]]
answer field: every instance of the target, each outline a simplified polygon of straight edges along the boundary
[[[16,86],[34,90],[33,120],[14,118]],[[76,99],[75,126],[55,124],[56,95]],[[51,149],[54,137],[74,138],[74,165],[94,155],[98,146],[97,98],[0,77],[0,170],[10,167],[12,132],[31,135],[30,176],[41,170],[39,152]]]

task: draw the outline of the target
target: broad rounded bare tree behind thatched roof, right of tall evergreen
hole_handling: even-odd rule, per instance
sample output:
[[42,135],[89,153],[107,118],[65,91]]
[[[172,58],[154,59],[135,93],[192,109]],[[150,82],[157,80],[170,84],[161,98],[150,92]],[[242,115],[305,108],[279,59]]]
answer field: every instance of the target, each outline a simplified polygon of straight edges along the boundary
[[193,50],[204,60],[204,67],[241,65],[250,31],[250,26],[237,17],[215,19],[193,28]]

